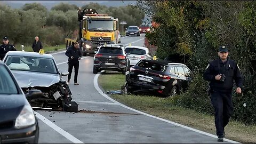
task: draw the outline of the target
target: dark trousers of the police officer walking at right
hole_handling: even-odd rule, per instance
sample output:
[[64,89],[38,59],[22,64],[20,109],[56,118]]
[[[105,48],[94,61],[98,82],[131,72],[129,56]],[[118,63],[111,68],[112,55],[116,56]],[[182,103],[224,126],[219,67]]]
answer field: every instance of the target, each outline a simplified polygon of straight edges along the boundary
[[213,91],[211,102],[214,107],[216,134],[222,135],[233,113],[232,93]]

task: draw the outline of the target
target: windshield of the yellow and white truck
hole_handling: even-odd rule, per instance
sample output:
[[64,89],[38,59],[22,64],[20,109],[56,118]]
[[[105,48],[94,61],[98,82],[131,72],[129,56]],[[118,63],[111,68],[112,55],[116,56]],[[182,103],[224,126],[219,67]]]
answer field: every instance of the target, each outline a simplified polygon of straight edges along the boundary
[[100,20],[90,20],[88,22],[88,30],[92,31],[113,31],[114,22],[113,21],[100,21]]

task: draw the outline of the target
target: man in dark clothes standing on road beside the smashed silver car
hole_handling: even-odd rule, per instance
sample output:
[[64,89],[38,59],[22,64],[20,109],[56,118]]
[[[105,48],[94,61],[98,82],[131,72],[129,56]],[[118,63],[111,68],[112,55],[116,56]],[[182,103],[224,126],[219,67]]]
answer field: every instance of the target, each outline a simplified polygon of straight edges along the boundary
[[71,45],[70,47],[68,47],[66,53],[65,53],[68,57],[68,84],[70,82],[71,79],[71,73],[73,70],[73,67],[75,69],[75,77],[74,77],[74,84],[75,85],[79,85],[77,83],[77,76],[78,76],[78,69],[79,69],[79,60],[82,57],[82,52],[79,49],[79,43],[75,42],[74,45]]

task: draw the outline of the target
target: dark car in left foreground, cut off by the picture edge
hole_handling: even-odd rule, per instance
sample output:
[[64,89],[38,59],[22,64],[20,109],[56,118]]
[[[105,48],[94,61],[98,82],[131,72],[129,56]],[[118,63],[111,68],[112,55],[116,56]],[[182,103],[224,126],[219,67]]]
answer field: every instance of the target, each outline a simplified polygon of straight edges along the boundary
[[[0,73],[0,143],[37,143],[38,122],[26,95],[2,61]],[[33,94],[41,92],[31,90],[27,97]]]

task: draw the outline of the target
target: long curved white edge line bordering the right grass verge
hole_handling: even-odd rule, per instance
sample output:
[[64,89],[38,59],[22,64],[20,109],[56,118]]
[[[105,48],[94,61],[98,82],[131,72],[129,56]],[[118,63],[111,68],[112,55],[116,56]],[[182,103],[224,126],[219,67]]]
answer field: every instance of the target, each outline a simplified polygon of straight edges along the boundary
[[[101,91],[99,85],[98,85],[98,77],[100,76],[100,74],[97,74],[94,76],[94,79],[93,79],[93,84],[94,84],[94,87],[95,89],[105,98],[107,98],[108,100],[110,101],[113,101],[115,103],[117,103],[119,106],[122,106],[126,109],[130,109],[134,112],[137,112],[139,114],[142,114],[142,115],[145,115],[145,116],[149,116],[149,117],[152,117],[152,118],[156,118],[156,119],[159,119],[161,121],[164,121],[166,123],[170,123],[170,124],[173,124],[173,125],[177,125],[177,126],[180,126],[180,127],[183,127],[185,129],[188,129],[188,130],[191,130],[191,131],[194,131],[194,132],[198,132],[198,133],[202,133],[202,134],[205,134],[205,135],[208,135],[210,137],[213,137],[213,138],[218,138],[217,135],[213,135],[211,133],[207,133],[207,132],[203,132],[203,131],[200,131],[200,130],[196,130],[194,128],[191,128],[191,127],[188,127],[188,126],[185,126],[185,125],[181,125],[181,124],[178,124],[178,123],[175,123],[175,122],[172,122],[172,121],[168,121],[166,119],[163,119],[163,118],[160,118],[160,117],[156,117],[156,116],[153,116],[153,115],[149,115],[149,114],[146,114],[146,113],[143,113],[142,111],[139,111],[139,110],[136,110],[136,109],[133,109],[133,108],[130,108],[130,107],[127,107],[125,105],[123,105],[122,103],[119,103],[118,101],[114,100],[114,99],[111,99],[110,97],[108,97],[107,94],[103,93],[103,91]],[[237,142],[237,141],[233,141],[233,140],[229,140],[229,139],[224,139],[225,141],[227,142],[231,142],[231,143],[240,143],[240,142]]]

